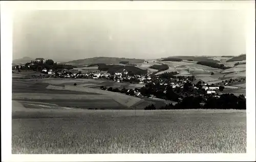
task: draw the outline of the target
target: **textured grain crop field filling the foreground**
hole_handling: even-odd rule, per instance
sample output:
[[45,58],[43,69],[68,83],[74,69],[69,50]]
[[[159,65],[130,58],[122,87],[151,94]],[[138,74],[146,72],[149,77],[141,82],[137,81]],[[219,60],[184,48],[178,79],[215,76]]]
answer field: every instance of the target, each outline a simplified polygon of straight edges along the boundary
[[12,119],[12,153],[246,152],[245,111],[37,113],[20,112],[23,118]]

